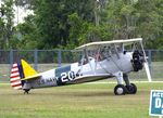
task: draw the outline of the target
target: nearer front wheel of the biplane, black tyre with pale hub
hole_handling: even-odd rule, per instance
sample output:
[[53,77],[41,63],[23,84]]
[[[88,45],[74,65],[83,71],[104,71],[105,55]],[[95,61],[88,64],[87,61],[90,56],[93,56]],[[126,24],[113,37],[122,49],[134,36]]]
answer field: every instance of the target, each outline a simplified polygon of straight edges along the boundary
[[127,92],[125,86],[123,84],[117,84],[115,88],[114,88],[114,94],[115,95],[125,95]]

